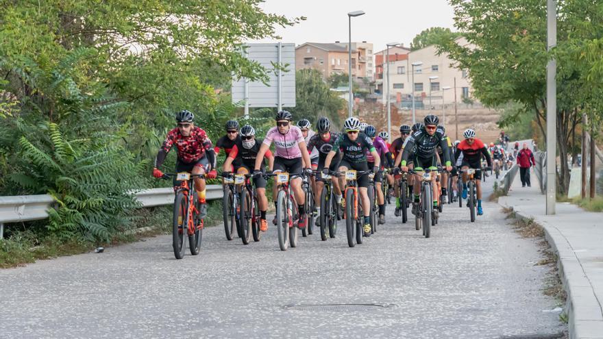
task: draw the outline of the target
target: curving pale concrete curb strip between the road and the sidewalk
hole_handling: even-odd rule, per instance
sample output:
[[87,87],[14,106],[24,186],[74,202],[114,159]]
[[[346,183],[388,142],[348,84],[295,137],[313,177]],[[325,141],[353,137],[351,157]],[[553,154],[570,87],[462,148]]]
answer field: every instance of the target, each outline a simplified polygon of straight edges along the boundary
[[521,219],[534,219],[543,228],[545,240],[557,255],[559,278],[567,294],[563,308],[568,316],[569,338],[603,339],[601,307],[582,264],[565,236],[546,221],[538,220],[536,216],[528,216],[515,206],[508,205],[506,197],[500,197],[498,204],[503,208],[510,208]]

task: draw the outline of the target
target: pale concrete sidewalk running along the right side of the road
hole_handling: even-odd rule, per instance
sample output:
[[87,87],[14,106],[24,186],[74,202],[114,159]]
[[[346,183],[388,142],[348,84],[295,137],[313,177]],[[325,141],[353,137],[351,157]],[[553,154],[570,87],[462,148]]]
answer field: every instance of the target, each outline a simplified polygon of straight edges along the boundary
[[[533,171],[532,171],[533,172]],[[569,315],[569,338],[603,339],[603,213],[586,212],[571,203],[557,203],[556,214],[545,215],[545,196],[536,176],[532,187],[521,187],[519,175],[500,205],[521,218],[534,218],[559,258],[559,275]]]

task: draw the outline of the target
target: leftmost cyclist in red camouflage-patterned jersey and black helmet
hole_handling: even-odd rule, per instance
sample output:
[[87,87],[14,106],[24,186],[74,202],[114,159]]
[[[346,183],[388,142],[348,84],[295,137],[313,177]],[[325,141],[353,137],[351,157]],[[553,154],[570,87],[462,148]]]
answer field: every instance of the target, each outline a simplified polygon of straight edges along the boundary
[[[163,177],[163,173],[159,168],[174,145],[177,148],[176,172],[207,173],[209,179],[217,177],[216,157],[212,140],[208,138],[203,129],[195,126],[193,118],[195,116],[188,110],[177,112],[177,127],[169,131],[157,153],[153,166],[153,177]],[[173,185],[179,186],[180,181],[174,178]],[[207,214],[205,186],[205,178],[195,178],[195,190],[197,191],[197,197],[199,197],[199,203],[201,203],[199,218],[204,218]]]

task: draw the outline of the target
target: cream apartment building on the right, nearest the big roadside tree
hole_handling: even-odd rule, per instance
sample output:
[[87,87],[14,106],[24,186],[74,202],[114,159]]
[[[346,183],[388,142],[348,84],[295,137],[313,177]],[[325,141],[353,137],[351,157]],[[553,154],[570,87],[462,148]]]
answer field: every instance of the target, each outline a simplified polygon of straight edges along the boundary
[[[456,42],[466,45],[465,38],[458,38]],[[391,55],[390,49],[390,55]],[[413,66],[413,63],[422,63]],[[383,66],[386,72],[386,64]],[[413,69],[415,72],[415,86],[413,88]],[[463,101],[471,97],[471,81],[467,70],[456,68],[454,60],[447,54],[438,55],[436,47],[428,46],[417,51],[411,51],[405,59],[394,60],[389,64],[390,84],[387,84],[386,73],[383,74],[382,100],[386,101],[386,89],[389,86],[390,100],[392,102],[410,101],[415,94],[415,101],[419,105],[442,105],[454,102],[454,80],[456,79],[456,100]],[[403,103],[404,105],[404,103]]]

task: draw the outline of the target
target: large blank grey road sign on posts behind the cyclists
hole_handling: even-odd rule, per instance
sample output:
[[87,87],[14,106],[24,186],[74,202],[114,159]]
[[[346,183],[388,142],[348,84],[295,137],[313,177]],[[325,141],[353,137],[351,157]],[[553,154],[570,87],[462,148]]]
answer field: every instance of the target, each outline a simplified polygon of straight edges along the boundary
[[[279,44],[248,44],[246,57],[262,65],[268,71],[267,85],[260,81],[247,83],[247,105],[253,108],[278,107],[279,80],[281,81],[282,107],[295,107],[295,44],[280,44],[280,62],[285,71],[278,76],[273,64],[279,62]],[[245,78],[232,78],[232,103],[245,101]]]

